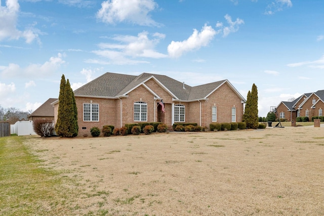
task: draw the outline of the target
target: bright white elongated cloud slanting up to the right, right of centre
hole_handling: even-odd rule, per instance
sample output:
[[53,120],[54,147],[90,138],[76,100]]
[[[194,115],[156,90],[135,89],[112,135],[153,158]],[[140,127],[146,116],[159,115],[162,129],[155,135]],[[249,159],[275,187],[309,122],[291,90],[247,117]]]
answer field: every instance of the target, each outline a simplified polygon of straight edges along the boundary
[[178,58],[182,56],[183,53],[198,50],[201,47],[206,47],[209,42],[214,38],[216,31],[205,24],[203,29],[198,32],[197,29],[193,29],[193,33],[190,37],[183,41],[172,41],[168,46],[169,56],[172,58]]

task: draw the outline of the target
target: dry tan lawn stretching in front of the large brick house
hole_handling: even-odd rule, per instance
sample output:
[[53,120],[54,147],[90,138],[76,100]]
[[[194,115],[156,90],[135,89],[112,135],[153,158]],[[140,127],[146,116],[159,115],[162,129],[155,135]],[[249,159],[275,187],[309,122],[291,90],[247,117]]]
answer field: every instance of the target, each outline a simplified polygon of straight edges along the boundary
[[[324,127],[31,138],[77,215],[323,215]],[[63,212],[62,212],[63,214]]]

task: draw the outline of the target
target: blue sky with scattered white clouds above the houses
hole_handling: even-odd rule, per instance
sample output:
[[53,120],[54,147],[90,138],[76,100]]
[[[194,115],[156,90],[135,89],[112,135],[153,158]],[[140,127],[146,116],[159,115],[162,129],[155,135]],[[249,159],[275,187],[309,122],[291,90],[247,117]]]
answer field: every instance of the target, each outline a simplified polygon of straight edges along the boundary
[[105,72],[228,79],[259,115],[324,89],[324,1],[0,1],[0,105],[35,110]]

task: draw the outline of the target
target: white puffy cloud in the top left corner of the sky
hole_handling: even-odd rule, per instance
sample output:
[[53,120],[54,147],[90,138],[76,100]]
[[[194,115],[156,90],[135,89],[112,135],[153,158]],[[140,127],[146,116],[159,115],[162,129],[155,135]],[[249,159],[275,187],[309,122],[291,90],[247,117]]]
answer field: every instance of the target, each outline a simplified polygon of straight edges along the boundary
[[30,44],[35,39],[40,42],[37,33],[37,31],[39,32],[38,29],[33,27],[28,27],[24,31],[17,29],[19,8],[18,0],[7,0],[6,6],[0,4],[0,41],[6,38],[17,40],[23,37],[27,44]]

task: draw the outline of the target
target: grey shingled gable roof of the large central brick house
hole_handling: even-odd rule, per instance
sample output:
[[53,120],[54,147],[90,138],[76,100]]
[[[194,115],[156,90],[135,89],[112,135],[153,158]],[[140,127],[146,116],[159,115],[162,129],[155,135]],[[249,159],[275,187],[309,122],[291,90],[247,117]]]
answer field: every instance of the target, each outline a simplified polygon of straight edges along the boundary
[[[127,97],[127,94],[139,85],[145,85],[149,79],[154,79],[161,88],[167,91],[175,100],[179,101],[194,101],[206,99],[210,94],[216,91],[222,84],[228,83],[230,88],[238,95],[238,97],[246,102],[233,85],[228,80],[198,85],[190,87],[178,80],[175,80],[166,75],[142,73],[138,76],[125,75],[117,73],[105,73],[91,82],[83,85],[74,91],[76,97],[100,97],[116,99],[118,97]],[[151,91],[152,92],[152,91]]]

